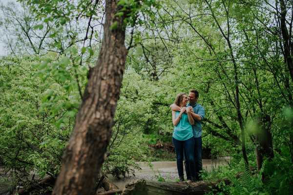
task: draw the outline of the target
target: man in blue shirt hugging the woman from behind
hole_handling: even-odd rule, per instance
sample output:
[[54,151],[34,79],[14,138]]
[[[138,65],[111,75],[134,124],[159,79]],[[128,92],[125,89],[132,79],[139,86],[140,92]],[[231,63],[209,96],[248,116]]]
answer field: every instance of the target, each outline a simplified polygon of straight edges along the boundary
[[[193,137],[194,137],[194,159],[195,159],[195,168],[196,168],[196,181],[202,181],[200,176],[203,166],[202,163],[202,150],[203,150],[203,142],[202,142],[202,124],[201,121],[205,117],[205,109],[203,106],[197,103],[197,99],[199,97],[198,91],[192,89],[188,94],[188,104],[187,106],[191,106],[193,108],[193,113],[191,113],[192,118],[194,119],[194,124],[192,125]],[[170,109],[173,111],[180,111],[180,107],[172,104]],[[187,175],[188,182],[191,182],[191,176],[189,172],[189,164],[184,156],[185,161],[185,171]]]

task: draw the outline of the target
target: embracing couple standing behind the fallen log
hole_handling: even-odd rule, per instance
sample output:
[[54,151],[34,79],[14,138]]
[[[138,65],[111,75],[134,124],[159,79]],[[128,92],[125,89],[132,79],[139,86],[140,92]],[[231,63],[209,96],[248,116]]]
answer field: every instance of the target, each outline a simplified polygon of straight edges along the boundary
[[190,90],[177,95],[172,110],[174,125],[172,141],[176,151],[177,170],[180,181],[184,181],[183,159],[187,182],[202,182],[202,124],[205,109],[197,103],[198,91]]

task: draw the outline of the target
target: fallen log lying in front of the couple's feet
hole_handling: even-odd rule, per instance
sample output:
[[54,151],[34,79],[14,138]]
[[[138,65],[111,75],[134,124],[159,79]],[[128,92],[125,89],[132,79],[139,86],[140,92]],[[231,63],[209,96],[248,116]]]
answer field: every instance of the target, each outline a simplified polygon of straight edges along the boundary
[[[230,180],[224,180],[226,185]],[[126,185],[122,195],[204,195],[218,190],[217,182],[187,183],[187,182],[160,182],[140,179]]]

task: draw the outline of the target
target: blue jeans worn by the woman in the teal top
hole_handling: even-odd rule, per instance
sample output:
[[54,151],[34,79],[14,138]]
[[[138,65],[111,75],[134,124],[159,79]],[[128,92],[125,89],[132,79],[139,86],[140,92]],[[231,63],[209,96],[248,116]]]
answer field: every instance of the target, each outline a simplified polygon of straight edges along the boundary
[[195,160],[194,160],[194,138],[191,137],[185,141],[179,141],[172,137],[172,141],[175,147],[177,170],[179,176],[184,176],[183,173],[183,159],[184,151],[186,151],[186,157],[188,159],[189,171],[192,177],[195,177]]

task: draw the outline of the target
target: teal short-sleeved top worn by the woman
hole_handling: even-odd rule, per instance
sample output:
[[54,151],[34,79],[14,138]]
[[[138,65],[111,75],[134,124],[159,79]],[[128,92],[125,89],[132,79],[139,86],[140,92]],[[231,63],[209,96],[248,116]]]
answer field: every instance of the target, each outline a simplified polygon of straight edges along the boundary
[[[179,116],[180,112],[176,112],[175,117]],[[183,113],[176,127],[174,127],[173,137],[179,141],[185,141],[193,137],[192,126],[188,121],[188,115]]]

